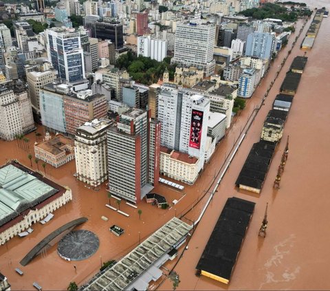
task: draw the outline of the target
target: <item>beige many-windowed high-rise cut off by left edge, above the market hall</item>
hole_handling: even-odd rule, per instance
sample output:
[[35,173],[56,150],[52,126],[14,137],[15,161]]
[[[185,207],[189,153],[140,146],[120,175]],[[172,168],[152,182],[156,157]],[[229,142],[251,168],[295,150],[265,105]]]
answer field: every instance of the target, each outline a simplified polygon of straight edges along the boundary
[[28,91],[25,86],[8,83],[0,87],[0,138],[14,140],[17,134],[34,130]]

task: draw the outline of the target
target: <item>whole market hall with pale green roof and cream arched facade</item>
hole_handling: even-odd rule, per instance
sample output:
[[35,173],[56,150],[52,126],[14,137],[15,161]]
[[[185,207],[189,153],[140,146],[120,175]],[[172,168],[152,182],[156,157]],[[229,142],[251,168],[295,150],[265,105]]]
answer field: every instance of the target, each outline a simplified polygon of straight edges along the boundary
[[72,191],[10,161],[0,168],[0,244],[72,200]]

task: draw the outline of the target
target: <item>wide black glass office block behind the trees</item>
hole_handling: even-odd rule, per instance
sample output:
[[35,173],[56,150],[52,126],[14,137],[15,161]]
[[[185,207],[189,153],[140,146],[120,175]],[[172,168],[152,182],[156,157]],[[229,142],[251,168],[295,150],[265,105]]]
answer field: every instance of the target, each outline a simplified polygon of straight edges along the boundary
[[95,23],[97,39],[109,39],[115,44],[115,50],[124,46],[122,23],[120,21],[98,22]]

